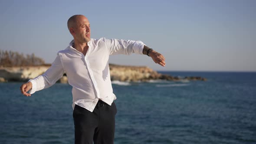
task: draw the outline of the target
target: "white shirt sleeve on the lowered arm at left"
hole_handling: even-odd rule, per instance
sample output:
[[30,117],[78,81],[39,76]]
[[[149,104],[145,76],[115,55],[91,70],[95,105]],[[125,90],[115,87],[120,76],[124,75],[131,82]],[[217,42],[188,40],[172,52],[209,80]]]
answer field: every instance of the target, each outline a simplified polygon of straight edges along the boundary
[[52,63],[52,66],[46,70],[42,75],[37,76],[34,79],[30,79],[29,82],[32,83],[32,89],[30,94],[35,93],[36,91],[49,88],[59,80],[64,74],[64,69],[62,65],[61,58],[59,53],[57,54],[56,59]]

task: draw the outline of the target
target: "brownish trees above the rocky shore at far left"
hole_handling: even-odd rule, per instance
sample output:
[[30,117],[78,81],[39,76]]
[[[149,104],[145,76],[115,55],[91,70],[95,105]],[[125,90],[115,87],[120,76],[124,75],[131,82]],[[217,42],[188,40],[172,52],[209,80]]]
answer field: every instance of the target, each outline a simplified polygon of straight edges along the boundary
[[0,66],[36,66],[45,65],[43,59],[36,57],[34,53],[27,54],[0,49]]

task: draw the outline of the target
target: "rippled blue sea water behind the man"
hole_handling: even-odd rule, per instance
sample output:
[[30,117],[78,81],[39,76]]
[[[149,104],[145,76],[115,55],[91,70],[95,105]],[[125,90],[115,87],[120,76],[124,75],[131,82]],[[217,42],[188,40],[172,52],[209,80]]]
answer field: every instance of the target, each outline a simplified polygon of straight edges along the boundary
[[[113,82],[115,144],[256,144],[256,72],[161,72],[203,81]],[[0,83],[0,144],[73,144],[72,94]]]

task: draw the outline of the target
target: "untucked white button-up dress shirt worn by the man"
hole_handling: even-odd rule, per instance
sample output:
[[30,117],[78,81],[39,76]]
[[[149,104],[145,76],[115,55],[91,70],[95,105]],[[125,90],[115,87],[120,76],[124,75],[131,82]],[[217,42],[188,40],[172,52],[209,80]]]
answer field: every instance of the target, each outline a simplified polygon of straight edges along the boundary
[[142,55],[144,43],[122,39],[91,39],[85,56],[72,47],[73,43],[74,40],[57,53],[52,66],[44,74],[29,80],[32,82],[30,94],[49,88],[66,72],[69,85],[72,85],[73,109],[76,104],[92,112],[99,99],[111,105],[116,96],[110,81],[109,55]]

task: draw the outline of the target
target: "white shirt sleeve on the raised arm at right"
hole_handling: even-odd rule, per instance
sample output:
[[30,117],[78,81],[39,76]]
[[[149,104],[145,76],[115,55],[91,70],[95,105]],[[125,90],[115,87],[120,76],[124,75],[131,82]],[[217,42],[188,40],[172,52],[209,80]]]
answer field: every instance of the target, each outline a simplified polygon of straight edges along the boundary
[[143,54],[144,43],[134,40],[103,39],[108,48],[109,55],[131,55],[131,53]]

